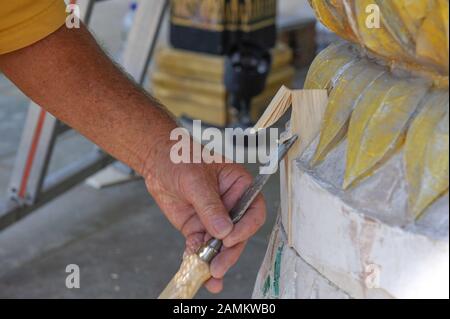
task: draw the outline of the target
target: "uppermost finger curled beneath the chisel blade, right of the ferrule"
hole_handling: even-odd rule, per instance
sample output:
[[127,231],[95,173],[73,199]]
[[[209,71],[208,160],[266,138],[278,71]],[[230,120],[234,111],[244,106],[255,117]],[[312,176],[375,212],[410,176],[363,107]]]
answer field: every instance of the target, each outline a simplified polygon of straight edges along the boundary
[[225,247],[233,247],[253,236],[266,220],[266,204],[262,195],[258,195],[242,219],[234,226],[233,231],[225,237]]

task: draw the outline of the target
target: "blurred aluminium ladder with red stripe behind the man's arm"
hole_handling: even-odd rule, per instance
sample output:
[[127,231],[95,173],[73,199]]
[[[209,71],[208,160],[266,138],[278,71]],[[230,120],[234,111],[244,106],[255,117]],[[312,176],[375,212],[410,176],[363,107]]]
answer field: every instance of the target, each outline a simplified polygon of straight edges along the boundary
[[[88,25],[95,0],[82,0],[78,3],[81,19]],[[145,73],[167,7],[167,0],[139,2],[124,51],[123,67],[140,85],[144,84]],[[8,188],[8,199],[0,202],[0,230],[24,218],[114,161],[95,147],[80,161],[47,175],[55,141],[68,129],[44,109],[30,103]]]

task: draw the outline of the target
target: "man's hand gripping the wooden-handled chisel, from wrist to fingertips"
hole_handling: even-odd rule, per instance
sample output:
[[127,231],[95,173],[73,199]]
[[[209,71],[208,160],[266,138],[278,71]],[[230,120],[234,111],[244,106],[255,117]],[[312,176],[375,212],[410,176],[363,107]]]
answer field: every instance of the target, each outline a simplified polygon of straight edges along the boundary
[[238,164],[173,164],[167,148],[158,149],[165,151],[151,156],[144,175],[147,188],[186,238],[185,253],[195,253],[211,236],[223,240],[221,253],[211,263],[212,278],[206,283],[209,291],[218,293],[223,276],[238,260],[247,239],[264,224],[263,197],[259,195],[233,227],[229,211],[252,182],[251,175]]

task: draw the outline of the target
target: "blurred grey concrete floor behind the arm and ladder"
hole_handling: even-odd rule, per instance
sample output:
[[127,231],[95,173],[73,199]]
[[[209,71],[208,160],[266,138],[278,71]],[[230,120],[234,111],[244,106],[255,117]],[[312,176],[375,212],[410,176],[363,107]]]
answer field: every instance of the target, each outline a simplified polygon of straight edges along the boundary
[[[120,47],[126,1],[100,3],[93,29],[112,52]],[[302,78],[302,74],[299,75]],[[9,181],[28,100],[0,75],[0,199]],[[75,132],[57,143],[50,171],[83,156],[92,144]],[[256,165],[247,165],[253,175]],[[227,274],[219,295],[249,298],[279,206],[279,177],[264,190],[268,219]],[[4,198],[4,197],[3,197]],[[178,269],[184,240],[141,180],[95,190],[81,184],[0,232],[0,298],[155,298]],[[67,289],[65,268],[77,264],[81,288]]]

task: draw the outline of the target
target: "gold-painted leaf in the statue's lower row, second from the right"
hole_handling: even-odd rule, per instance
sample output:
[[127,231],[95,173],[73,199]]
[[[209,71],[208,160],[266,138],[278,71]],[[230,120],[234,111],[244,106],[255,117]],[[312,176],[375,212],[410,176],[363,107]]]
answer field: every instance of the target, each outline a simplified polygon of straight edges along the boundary
[[407,125],[427,89],[422,81],[385,74],[363,93],[349,124],[344,188],[370,175],[403,144]]

